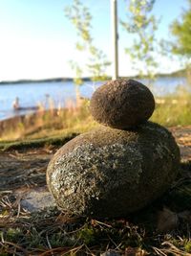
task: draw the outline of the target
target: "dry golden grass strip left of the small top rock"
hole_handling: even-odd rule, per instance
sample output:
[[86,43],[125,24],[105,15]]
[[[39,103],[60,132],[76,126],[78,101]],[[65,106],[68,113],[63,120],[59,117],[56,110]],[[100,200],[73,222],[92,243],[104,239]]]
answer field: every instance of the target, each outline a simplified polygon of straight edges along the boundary
[[2,122],[0,141],[82,133],[94,127],[96,122],[89,113],[89,101],[82,100],[76,106],[68,102],[66,108],[55,108],[52,103],[49,110],[41,108],[36,113]]

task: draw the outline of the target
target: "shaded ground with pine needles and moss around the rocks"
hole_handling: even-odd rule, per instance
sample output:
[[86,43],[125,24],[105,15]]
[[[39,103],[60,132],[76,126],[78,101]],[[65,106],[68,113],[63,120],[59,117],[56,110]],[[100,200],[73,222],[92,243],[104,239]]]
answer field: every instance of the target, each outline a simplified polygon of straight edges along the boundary
[[[28,147],[25,148],[24,146],[20,147],[18,144],[10,147],[10,149],[6,151],[2,150],[0,153],[0,255],[13,255],[11,254],[13,253],[13,251],[18,251],[20,253],[15,253],[15,255],[67,255],[67,253],[68,255],[70,255],[70,253],[76,251],[82,251],[81,255],[87,255],[87,251],[90,252],[90,255],[96,255],[96,249],[99,249],[99,251],[104,251],[108,248],[112,248],[115,251],[121,253],[124,253],[125,251],[125,255],[148,255],[148,251],[152,251],[152,253],[149,255],[191,255],[191,127],[176,127],[169,129],[174,134],[180,147],[182,173],[176,180],[175,184],[173,184],[171,192],[169,192],[167,196],[164,196],[164,198],[160,199],[157,204],[154,203],[154,205],[149,206],[150,210],[148,211],[150,212],[148,215],[151,214],[151,211],[152,213],[157,212],[158,215],[160,213],[159,218],[161,219],[156,221],[154,224],[155,228],[160,229],[162,233],[162,235],[160,235],[160,238],[159,234],[156,235],[156,233],[154,231],[151,231],[151,229],[149,229],[149,232],[155,233],[155,237],[153,237],[153,239],[151,240],[152,242],[149,240],[150,238],[146,236],[146,239],[149,240],[149,243],[151,243],[152,245],[148,245],[145,241],[144,243],[142,242],[143,237],[145,236],[145,234],[147,234],[146,230],[148,223],[146,223],[143,227],[143,229],[145,229],[144,231],[143,229],[141,229],[142,227],[138,226],[140,220],[142,221],[145,216],[147,220],[148,215],[145,214],[146,212],[148,213],[147,210],[146,212],[143,211],[143,213],[141,213],[140,219],[137,218],[138,216],[129,217],[134,224],[137,224],[137,227],[135,227],[137,229],[134,229],[134,225],[131,226],[131,224],[129,224],[129,226],[127,227],[127,220],[119,220],[120,222],[108,220],[86,220],[85,222],[82,221],[83,224],[80,224],[81,222],[79,223],[76,220],[73,224],[71,223],[73,221],[65,220],[64,225],[65,228],[67,228],[67,232],[68,228],[70,227],[71,232],[77,234],[77,242],[75,241],[73,243],[72,240],[74,239],[74,237],[72,239],[68,235],[67,236],[69,241],[65,244],[61,243],[59,237],[55,239],[52,237],[52,235],[50,235],[51,238],[48,237],[48,235],[41,235],[41,240],[35,242],[36,244],[33,242],[31,237],[29,239],[30,242],[23,242],[23,239],[21,239],[22,234],[29,235],[33,232],[33,229],[31,230],[31,226],[28,226],[28,228],[26,227],[27,225],[30,225],[29,220],[32,220],[33,218],[31,212],[35,212],[36,210],[42,210],[45,206],[54,207],[53,198],[51,197],[46,187],[46,169],[51,157],[53,156],[53,153],[60,146],[53,146],[51,144],[43,145],[43,143],[41,143],[38,146],[35,145],[35,147],[33,148],[29,147],[29,145],[27,145]],[[175,201],[173,201],[174,198],[176,198]],[[26,212],[26,209],[28,210],[28,212]],[[25,216],[28,216],[28,221],[23,224],[24,221],[22,220],[25,220]],[[63,217],[63,213],[61,213],[60,210],[56,210],[55,212],[53,212],[53,215],[49,214],[49,221],[53,219],[53,222],[49,223],[47,222],[48,219],[46,217],[46,214],[44,221],[42,221],[42,216],[43,215],[41,215],[41,219],[36,222],[37,225],[42,225],[42,234],[43,230],[45,229],[44,223],[46,222],[47,226],[49,226],[49,229],[54,228],[52,230],[54,232],[54,235],[58,236],[57,234],[61,230],[58,228],[58,226],[63,225],[63,218],[66,218]],[[170,227],[166,227],[165,224],[159,224],[159,221],[165,223],[165,221],[162,221],[162,218],[165,219],[165,217],[171,219],[171,221],[167,221],[168,223],[170,222]],[[62,223],[60,223],[59,218],[61,218]],[[151,219],[149,220],[151,221]],[[110,229],[111,226],[113,227],[113,229]],[[142,224],[140,226],[142,226]],[[13,228],[19,228],[18,230],[15,230],[17,230],[18,233],[20,232],[21,234],[15,234],[15,232],[17,231],[15,231]],[[34,227],[32,228],[35,228],[37,230],[39,226],[34,225]],[[105,231],[106,229],[109,230],[107,231],[109,233]],[[115,232],[117,232],[118,230],[118,232],[120,232],[119,237],[121,237],[121,234],[123,234],[123,232],[126,232],[124,231],[124,229],[126,231],[128,230],[130,237],[133,236],[135,238],[135,243],[131,241],[125,244],[123,240],[121,240],[121,242],[118,242],[118,240],[117,242],[113,241],[116,236]],[[138,229],[140,229],[140,231],[138,231]],[[172,231],[174,232],[177,229],[179,229],[179,232],[176,231],[177,234],[171,233]],[[9,235],[9,232],[11,232],[10,230],[13,230],[13,235]],[[99,234],[99,232],[101,232],[101,236],[104,237],[105,233],[103,231],[107,234],[107,239],[103,238],[105,242],[99,242],[99,244],[102,245],[97,248],[97,244],[94,239],[96,238],[97,234]],[[47,229],[46,232],[46,234],[49,234],[49,231]],[[66,230],[63,232],[66,232]],[[167,233],[163,235],[163,232]],[[166,237],[167,234],[170,236],[169,240]],[[18,236],[18,239],[15,240],[14,236]],[[122,238],[124,238],[124,236],[122,236]],[[159,244],[159,241],[155,241],[154,243],[153,240],[155,239],[160,240],[161,243]],[[106,240],[108,241],[106,242]],[[141,240],[141,242],[138,242],[139,240]],[[173,244],[172,241],[176,242]],[[34,244],[32,245],[32,243]],[[104,243],[106,243],[106,245],[103,245]],[[134,254],[130,254],[128,252],[128,250],[131,250],[131,248]]]

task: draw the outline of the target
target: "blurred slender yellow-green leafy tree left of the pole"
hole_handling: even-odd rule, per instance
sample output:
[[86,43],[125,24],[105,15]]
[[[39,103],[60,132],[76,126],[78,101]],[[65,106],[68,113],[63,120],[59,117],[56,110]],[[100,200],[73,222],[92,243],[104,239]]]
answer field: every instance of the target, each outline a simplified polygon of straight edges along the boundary
[[[76,50],[79,52],[87,52],[89,59],[86,66],[92,76],[92,81],[106,80],[106,68],[110,65],[106,55],[102,50],[96,48],[94,39],[91,35],[92,30],[92,14],[79,0],[74,0],[71,6],[66,7],[65,14],[75,27],[78,41],[75,44]],[[72,68],[75,71],[75,84],[82,83],[83,70],[78,63],[72,61]]]

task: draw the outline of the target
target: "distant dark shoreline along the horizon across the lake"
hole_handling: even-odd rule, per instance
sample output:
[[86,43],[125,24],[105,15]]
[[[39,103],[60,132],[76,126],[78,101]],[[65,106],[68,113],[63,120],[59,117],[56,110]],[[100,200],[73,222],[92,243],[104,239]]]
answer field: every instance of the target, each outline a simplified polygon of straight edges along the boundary
[[[164,77],[185,77],[186,71],[185,69],[181,69],[168,74],[157,74],[156,77],[164,78]],[[138,79],[138,76],[134,77],[120,77],[121,79]],[[144,77],[147,79],[147,77]],[[108,77],[107,80],[111,80],[111,77]],[[17,81],[0,81],[0,85],[7,84],[17,84],[17,83],[39,83],[39,82],[60,82],[60,81],[74,81],[74,78],[53,78],[53,79],[42,79],[42,80],[17,80]],[[82,78],[82,81],[91,81],[90,77]]]

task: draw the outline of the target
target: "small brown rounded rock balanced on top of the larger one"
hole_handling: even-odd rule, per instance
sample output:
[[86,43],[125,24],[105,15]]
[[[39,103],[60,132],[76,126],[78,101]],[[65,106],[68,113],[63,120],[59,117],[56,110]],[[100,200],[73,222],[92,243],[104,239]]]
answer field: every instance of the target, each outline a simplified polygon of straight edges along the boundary
[[149,119],[155,109],[155,100],[151,91],[138,81],[108,81],[96,89],[90,109],[100,124],[131,128]]

